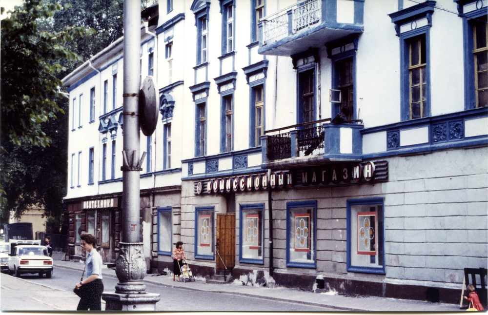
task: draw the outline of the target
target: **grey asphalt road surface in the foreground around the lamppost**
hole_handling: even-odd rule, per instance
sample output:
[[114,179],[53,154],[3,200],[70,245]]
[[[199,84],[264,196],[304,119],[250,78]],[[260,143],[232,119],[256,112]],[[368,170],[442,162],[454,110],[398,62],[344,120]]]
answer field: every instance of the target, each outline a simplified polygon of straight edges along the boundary
[[[79,298],[72,293],[80,281],[79,271],[55,268],[50,279],[38,275],[22,275],[26,281],[1,275],[0,310],[76,310]],[[105,291],[115,291],[118,279],[105,276]],[[38,285],[35,285],[38,284]],[[41,285],[41,286],[39,286]],[[57,289],[61,291],[56,291]],[[337,311],[301,303],[274,301],[243,295],[164,287],[146,283],[146,292],[161,294],[156,311],[255,311],[310,312]],[[102,310],[105,308],[102,301]],[[45,307],[44,307],[44,306]]]

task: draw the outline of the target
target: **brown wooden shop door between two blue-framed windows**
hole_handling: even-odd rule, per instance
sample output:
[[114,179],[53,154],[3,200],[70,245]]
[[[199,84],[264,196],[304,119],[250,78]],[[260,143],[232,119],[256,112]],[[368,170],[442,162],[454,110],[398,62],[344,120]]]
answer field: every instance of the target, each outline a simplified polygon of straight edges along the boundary
[[236,215],[217,214],[217,270],[232,269],[236,264]]

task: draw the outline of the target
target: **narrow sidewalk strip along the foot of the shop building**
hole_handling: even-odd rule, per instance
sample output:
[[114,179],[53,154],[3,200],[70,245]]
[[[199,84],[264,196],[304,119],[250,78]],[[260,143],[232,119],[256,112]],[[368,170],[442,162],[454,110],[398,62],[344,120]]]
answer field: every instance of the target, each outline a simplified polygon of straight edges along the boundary
[[[67,268],[83,270],[84,265],[81,262],[55,260],[55,268]],[[117,277],[114,268],[104,268],[102,275]],[[427,301],[405,300],[374,296],[352,297],[344,295],[332,295],[325,293],[314,293],[301,291],[297,289],[288,289],[283,287],[260,287],[242,285],[242,282],[236,280],[226,284],[206,283],[204,278],[196,278],[196,281],[177,282],[173,281],[173,276],[148,274],[144,277],[147,283],[161,285],[165,287],[177,287],[180,289],[226,293],[235,295],[246,295],[251,297],[266,298],[276,301],[296,302],[307,305],[322,306],[326,308],[337,309],[338,311],[353,312],[464,312],[459,309],[459,304],[432,303]],[[115,291],[115,288],[105,288],[107,291]],[[157,293],[157,292],[150,292]],[[460,292],[461,294],[461,292]],[[74,295],[76,296],[76,295]],[[461,295],[460,295],[461,296]],[[103,308],[103,306],[102,306]]]

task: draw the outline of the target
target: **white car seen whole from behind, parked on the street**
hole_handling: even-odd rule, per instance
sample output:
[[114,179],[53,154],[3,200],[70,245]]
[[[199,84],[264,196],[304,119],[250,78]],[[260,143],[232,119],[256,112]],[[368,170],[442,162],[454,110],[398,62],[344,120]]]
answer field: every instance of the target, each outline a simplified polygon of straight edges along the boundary
[[53,274],[53,258],[47,248],[40,245],[17,245],[8,258],[8,273],[20,277],[21,274],[39,274],[50,278]]

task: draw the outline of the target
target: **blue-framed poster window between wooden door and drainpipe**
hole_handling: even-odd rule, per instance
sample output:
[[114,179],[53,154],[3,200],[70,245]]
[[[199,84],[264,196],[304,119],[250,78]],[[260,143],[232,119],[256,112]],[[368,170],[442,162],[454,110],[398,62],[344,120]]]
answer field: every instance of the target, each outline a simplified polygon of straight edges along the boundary
[[264,264],[264,204],[240,205],[239,262]]

